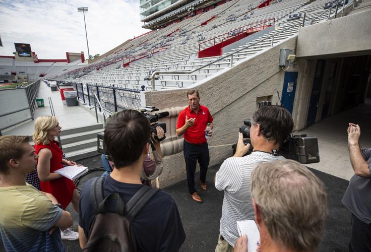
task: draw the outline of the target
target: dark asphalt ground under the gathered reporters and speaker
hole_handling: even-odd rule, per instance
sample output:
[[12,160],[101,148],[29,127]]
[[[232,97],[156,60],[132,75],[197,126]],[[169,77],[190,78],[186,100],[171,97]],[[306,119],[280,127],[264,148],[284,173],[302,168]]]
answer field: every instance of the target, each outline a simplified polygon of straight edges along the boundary
[[[83,159],[78,161],[89,168],[100,167],[100,156]],[[185,239],[180,251],[214,251],[219,235],[219,221],[222,211],[222,202],[224,193],[216,190],[213,185],[215,173],[219,165],[209,167],[207,174],[208,190],[201,191],[198,183],[196,189],[203,199],[199,204],[191,200],[187,181],[183,180],[175,185],[163,189],[175,200],[180,217],[183,223]],[[328,217],[325,223],[326,231],[323,242],[318,251],[348,251],[348,242],[350,236],[350,212],[341,204],[341,199],[348,186],[348,181],[324,172],[311,169],[325,184],[328,193]],[[82,187],[91,177],[100,176],[101,171],[94,171],[83,177],[78,184]],[[197,177],[197,175],[196,175]],[[67,210],[72,213],[74,225],[72,229],[77,231],[78,214],[76,214],[71,205]],[[64,241],[66,251],[81,251],[78,241]],[[4,247],[0,248],[4,251]]]

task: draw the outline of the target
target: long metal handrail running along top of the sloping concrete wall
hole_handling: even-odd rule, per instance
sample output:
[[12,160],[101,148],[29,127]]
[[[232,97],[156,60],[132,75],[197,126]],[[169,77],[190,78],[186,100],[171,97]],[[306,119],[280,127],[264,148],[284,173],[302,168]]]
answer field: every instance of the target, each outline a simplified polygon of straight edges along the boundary
[[[344,0],[344,2],[345,2],[345,0]],[[330,11],[330,14],[331,14],[331,9],[334,8],[337,5],[338,5],[338,2],[336,3],[336,5],[332,5],[329,9],[327,9],[326,11],[322,12],[320,15],[318,15],[317,17],[315,17],[314,19],[312,19],[310,24],[312,24],[316,19],[318,19],[319,17],[321,17],[323,14],[325,14],[328,11]],[[277,32],[277,33],[274,33],[274,34],[272,34],[270,36],[267,36],[265,38],[262,38],[262,39],[260,39],[260,40],[258,40],[256,42],[248,45],[248,46],[241,47],[240,49],[238,49],[236,51],[230,52],[230,53],[228,53],[228,54],[226,54],[226,55],[224,55],[224,56],[222,56],[220,58],[217,58],[217,59],[215,59],[215,60],[213,60],[213,61],[211,61],[211,62],[209,62],[209,63],[207,63],[205,65],[202,65],[199,68],[196,68],[196,69],[193,69],[193,70],[190,70],[190,71],[155,71],[151,75],[152,90],[155,91],[155,76],[156,75],[160,75],[160,74],[192,74],[192,73],[194,73],[196,71],[199,71],[199,70],[201,70],[203,68],[206,68],[206,67],[214,64],[215,62],[218,62],[218,61],[220,61],[220,60],[222,60],[224,58],[227,58],[227,57],[230,57],[231,58],[230,59],[230,67],[233,67],[233,54],[238,53],[238,52],[240,52],[242,50],[245,50],[246,48],[252,47],[252,46],[254,46],[256,44],[259,44],[260,42],[263,42],[263,41],[268,40],[270,38],[272,39],[271,46],[273,46],[274,36],[276,36],[278,34],[281,34],[282,32],[285,32],[285,31],[287,31],[287,30],[289,30],[291,28],[294,28],[295,26],[301,26],[301,23],[293,24],[293,25],[291,25],[291,26],[289,26],[289,27],[287,27],[287,28],[285,28],[285,29]]]

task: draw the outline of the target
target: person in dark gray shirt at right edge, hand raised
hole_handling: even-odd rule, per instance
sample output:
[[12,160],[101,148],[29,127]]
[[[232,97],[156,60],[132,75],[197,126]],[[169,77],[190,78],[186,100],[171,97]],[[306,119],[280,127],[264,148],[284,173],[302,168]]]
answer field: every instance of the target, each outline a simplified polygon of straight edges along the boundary
[[349,251],[371,251],[371,149],[359,146],[361,129],[358,124],[348,125],[348,148],[350,164],[354,175],[341,203],[349,209],[351,216],[351,234]]

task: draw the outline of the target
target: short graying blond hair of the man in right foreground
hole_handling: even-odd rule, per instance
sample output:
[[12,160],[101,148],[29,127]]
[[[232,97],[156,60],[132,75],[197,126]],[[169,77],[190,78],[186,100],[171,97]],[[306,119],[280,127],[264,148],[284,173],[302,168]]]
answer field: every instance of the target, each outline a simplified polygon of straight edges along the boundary
[[315,251],[327,215],[322,181],[293,160],[259,164],[251,181],[251,195],[273,241],[295,251]]

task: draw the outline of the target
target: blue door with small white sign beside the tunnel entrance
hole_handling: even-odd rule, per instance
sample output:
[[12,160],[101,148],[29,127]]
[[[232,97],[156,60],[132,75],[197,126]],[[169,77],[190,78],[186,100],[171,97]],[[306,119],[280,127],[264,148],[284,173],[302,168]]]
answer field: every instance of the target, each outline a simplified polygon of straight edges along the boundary
[[286,108],[291,114],[294,107],[294,98],[296,91],[297,72],[285,72],[285,79],[283,81],[282,89],[282,106]]

